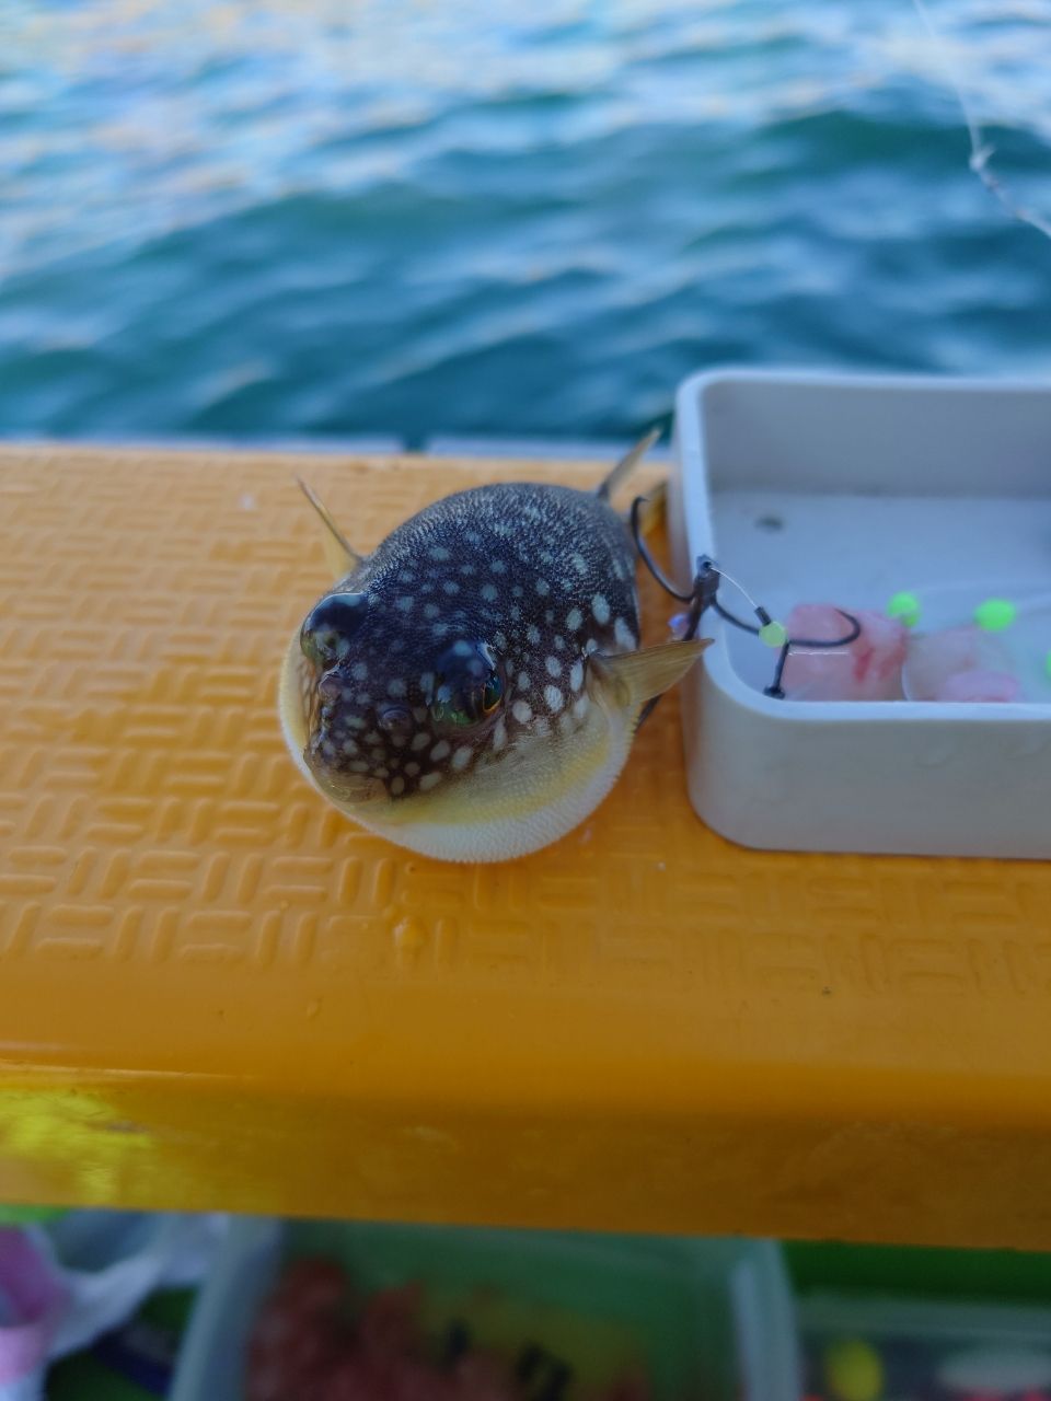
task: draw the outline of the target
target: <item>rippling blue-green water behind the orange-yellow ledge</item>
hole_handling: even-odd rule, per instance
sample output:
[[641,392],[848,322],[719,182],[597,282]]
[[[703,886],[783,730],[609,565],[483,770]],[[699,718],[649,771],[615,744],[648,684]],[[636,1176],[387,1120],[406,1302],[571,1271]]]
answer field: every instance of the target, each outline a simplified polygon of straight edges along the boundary
[[0,0],[0,433],[622,436],[1051,368],[1051,0]]

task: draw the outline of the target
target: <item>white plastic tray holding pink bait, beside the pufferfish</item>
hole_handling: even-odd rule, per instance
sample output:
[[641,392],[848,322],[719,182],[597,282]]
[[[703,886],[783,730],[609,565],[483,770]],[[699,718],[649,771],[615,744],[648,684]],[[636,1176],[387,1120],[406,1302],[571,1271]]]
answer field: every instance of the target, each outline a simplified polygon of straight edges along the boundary
[[774,618],[881,611],[900,590],[921,626],[1026,604],[1005,644],[1027,699],[994,705],[775,699],[776,658],[708,615],[717,646],[684,692],[705,822],[782,850],[1051,856],[1051,384],[701,374],[678,391],[675,448],[680,580],[712,555]]

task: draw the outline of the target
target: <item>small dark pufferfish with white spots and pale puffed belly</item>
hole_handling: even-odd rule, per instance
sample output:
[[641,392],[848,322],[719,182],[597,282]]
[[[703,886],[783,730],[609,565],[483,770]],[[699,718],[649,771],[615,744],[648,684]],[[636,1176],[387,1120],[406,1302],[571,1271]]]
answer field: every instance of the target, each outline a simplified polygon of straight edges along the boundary
[[706,644],[639,650],[635,546],[610,495],[650,441],[596,492],[457,492],[367,558],[304,486],[338,579],[291,639],[280,715],[329,801],[453,862],[534,852],[601,803],[643,706]]

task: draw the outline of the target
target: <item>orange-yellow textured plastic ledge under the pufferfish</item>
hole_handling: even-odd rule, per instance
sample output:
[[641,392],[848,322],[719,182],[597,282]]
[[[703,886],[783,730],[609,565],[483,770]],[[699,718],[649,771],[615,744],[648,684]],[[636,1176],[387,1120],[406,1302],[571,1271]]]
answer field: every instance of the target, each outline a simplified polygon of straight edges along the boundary
[[547,852],[363,835],[296,469],[362,548],[598,471],[0,453],[0,1199],[1051,1247],[1051,867],[729,846],[674,700]]

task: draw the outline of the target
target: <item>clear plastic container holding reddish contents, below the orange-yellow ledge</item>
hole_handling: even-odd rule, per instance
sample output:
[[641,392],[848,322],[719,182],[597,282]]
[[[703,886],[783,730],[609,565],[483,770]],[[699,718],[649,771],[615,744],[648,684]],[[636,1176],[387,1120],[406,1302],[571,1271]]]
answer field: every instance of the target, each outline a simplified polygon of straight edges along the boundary
[[238,1401],[256,1311],[300,1255],[339,1259],[364,1292],[420,1282],[436,1335],[464,1320],[482,1344],[540,1342],[591,1380],[639,1363],[654,1401],[800,1397],[772,1244],[241,1220],[199,1299],[172,1401]]

